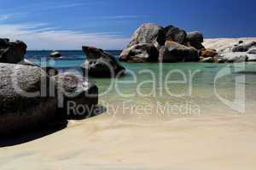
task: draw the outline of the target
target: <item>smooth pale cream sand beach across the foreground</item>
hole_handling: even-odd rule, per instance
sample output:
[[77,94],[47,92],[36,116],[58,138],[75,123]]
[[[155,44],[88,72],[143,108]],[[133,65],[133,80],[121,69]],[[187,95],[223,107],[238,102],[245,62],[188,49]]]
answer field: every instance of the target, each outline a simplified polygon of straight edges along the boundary
[[256,116],[183,117],[135,126],[111,116],[0,149],[0,169],[255,170]]

